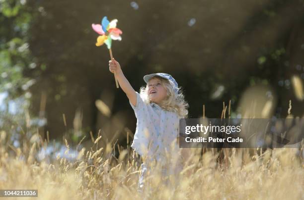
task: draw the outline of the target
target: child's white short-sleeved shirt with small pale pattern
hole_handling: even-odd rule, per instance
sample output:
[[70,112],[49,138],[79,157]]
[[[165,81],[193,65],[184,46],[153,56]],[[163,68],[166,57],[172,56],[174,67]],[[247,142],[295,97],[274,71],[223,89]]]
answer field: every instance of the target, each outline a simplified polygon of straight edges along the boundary
[[[154,155],[157,161],[164,159],[165,149],[167,152],[177,153],[179,115],[173,111],[163,110],[156,103],[145,103],[138,92],[136,96],[136,106],[129,100],[137,118],[131,147],[140,155]],[[172,149],[170,149],[171,144]]]

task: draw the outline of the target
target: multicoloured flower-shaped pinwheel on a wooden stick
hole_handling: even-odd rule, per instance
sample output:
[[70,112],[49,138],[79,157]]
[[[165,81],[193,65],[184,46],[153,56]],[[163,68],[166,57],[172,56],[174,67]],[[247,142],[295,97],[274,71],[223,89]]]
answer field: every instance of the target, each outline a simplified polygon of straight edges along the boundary
[[[107,48],[110,51],[111,60],[113,60],[113,54],[111,50],[112,40],[119,40],[121,41],[122,31],[116,28],[117,19],[113,19],[111,22],[104,16],[101,20],[101,24],[92,24],[93,30],[98,33],[100,36],[97,38],[96,46],[100,47],[104,43],[107,45]],[[116,78],[116,72],[114,71],[115,83],[116,88],[119,88],[118,81]]]

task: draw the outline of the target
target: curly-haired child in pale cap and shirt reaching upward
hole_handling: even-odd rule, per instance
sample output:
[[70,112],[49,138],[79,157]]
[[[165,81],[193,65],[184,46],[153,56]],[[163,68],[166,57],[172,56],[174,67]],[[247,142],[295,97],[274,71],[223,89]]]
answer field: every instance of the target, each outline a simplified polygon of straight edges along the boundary
[[[121,89],[126,93],[137,118],[137,127],[131,147],[142,156],[138,190],[143,191],[144,177],[157,163],[163,176],[178,174],[179,118],[188,115],[188,103],[179,92],[175,79],[165,73],[144,76],[146,87],[136,92],[124,76],[119,62],[109,61],[109,69],[116,71]],[[176,158],[177,157],[177,158]],[[179,156],[180,157],[180,156]]]

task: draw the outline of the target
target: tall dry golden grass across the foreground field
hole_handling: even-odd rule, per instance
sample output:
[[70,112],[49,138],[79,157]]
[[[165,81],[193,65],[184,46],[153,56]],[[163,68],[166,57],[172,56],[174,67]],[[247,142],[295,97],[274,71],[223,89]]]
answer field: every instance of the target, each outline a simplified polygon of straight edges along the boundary
[[[155,170],[147,177],[148,189],[139,194],[140,159],[129,146],[127,149],[118,146],[117,158],[112,144],[98,148],[98,137],[89,150],[79,151],[76,160],[57,156],[48,163],[35,157],[39,149],[46,148],[47,142],[24,144],[20,149],[4,143],[5,137],[2,131],[0,189],[35,189],[38,190],[35,199],[304,199],[303,146],[253,152],[232,149],[222,162],[218,162],[218,153],[213,150],[200,157],[192,149],[193,156],[188,158],[175,189],[172,184],[165,184],[164,177]],[[65,154],[69,154],[67,141],[65,145]]]

